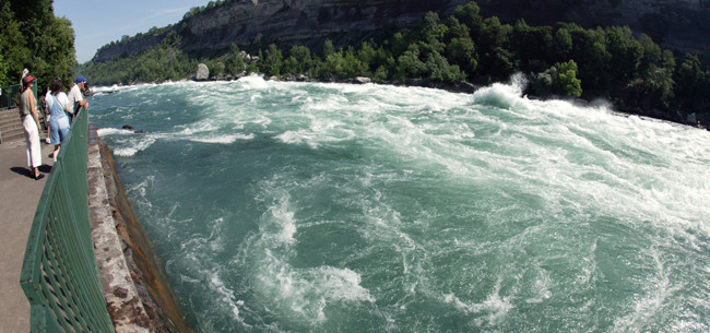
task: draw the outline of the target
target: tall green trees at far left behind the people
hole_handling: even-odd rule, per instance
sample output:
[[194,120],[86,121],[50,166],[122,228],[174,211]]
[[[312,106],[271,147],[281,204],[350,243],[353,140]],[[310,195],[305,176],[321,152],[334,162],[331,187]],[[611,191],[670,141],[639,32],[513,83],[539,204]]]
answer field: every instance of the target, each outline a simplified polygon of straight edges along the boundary
[[0,86],[19,84],[25,68],[40,86],[73,82],[74,29],[55,16],[52,0],[0,1]]

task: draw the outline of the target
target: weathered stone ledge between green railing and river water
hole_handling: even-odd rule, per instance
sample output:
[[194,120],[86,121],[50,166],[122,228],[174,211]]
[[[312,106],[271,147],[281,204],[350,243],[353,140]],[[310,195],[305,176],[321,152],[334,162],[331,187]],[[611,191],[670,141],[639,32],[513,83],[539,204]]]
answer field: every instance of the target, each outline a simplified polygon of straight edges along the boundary
[[96,263],[116,332],[192,332],[94,126],[90,126],[88,189]]

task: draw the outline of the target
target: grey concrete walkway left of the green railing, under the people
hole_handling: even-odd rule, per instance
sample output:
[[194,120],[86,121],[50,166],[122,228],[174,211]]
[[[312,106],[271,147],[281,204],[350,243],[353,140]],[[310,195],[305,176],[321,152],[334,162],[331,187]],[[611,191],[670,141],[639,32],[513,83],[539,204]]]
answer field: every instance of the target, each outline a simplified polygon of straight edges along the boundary
[[32,221],[54,163],[54,146],[42,142],[39,171],[45,178],[40,180],[29,176],[26,148],[25,140],[0,144],[0,333],[29,332],[29,304],[20,287],[20,273]]

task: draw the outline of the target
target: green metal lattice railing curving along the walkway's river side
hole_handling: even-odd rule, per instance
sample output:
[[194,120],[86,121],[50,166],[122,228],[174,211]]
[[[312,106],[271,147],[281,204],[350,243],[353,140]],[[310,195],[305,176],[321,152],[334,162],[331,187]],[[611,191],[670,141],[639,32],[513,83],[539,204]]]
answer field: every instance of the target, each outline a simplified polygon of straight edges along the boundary
[[31,332],[115,332],[106,309],[88,217],[88,115],[82,109],[43,190],[20,284]]

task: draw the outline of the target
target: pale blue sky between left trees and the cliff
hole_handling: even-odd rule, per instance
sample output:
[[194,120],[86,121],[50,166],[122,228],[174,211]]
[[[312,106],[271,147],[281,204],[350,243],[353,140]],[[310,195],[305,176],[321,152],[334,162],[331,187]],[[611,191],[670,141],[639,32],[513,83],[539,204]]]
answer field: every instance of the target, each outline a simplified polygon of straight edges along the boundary
[[55,15],[64,16],[74,28],[76,61],[91,60],[96,50],[123,35],[145,33],[182,20],[190,8],[206,5],[210,0],[56,0]]

